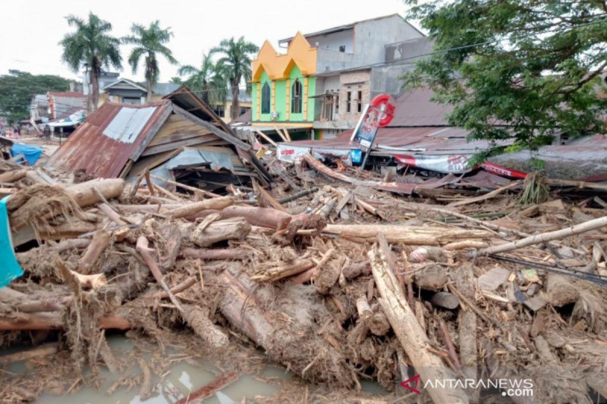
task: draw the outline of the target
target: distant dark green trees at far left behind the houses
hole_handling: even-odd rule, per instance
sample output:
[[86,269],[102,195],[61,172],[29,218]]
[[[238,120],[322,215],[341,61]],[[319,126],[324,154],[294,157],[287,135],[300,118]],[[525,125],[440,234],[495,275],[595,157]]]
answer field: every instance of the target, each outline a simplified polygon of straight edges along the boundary
[[30,116],[30,103],[34,94],[47,91],[66,91],[70,81],[59,76],[32,75],[25,71],[8,70],[0,75],[0,116],[10,122]]

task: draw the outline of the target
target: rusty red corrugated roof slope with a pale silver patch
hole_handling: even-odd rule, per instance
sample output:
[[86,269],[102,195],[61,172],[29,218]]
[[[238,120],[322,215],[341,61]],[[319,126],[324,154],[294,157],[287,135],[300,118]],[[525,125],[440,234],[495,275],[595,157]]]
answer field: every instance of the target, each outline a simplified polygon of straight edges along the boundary
[[146,105],[105,102],[53,153],[47,165],[118,177],[129,159],[138,159],[171,110],[168,100]]

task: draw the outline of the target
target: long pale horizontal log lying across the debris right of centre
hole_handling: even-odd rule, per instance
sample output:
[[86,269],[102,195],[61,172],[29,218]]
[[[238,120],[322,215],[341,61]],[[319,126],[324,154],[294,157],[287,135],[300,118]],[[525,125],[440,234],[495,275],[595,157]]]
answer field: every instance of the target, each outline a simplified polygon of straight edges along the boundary
[[465,230],[442,227],[415,227],[404,225],[335,225],[328,224],[324,231],[346,237],[373,239],[384,234],[387,242],[409,245],[439,245],[457,240],[489,238],[486,230]]

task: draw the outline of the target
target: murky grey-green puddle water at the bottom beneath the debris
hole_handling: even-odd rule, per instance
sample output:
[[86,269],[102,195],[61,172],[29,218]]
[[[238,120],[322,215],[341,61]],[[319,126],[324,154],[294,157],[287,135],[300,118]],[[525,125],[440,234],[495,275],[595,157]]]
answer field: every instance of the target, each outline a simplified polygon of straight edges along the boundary
[[[107,342],[116,355],[120,352],[132,350],[134,345],[132,340],[124,336],[112,336],[107,339]],[[147,359],[147,358],[146,358]],[[169,373],[161,379],[154,375],[152,385],[156,386],[154,393],[146,400],[142,400],[140,396],[140,385],[134,385],[131,388],[119,387],[112,394],[107,394],[106,391],[120,377],[107,371],[105,368],[100,369],[100,378],[103,380],[99,390],[86,386],[77,389],[71,394],[56,396],[55,394],[45,392],[36,402],[44,404],[173,404],[183,397],[187,397],[192,392],[197,391],[202,386],[212,382],[220,369],[212,365],[210,362],[197,360],[200,366],[192,365],[188,362],[180,362],[173,366]],[[23,362],[13,363],[7,369],[13,373],[22,373],[25,371]],[[141,373],[138,365],[133,366],[132,375],[136,376]],[[293,380],[293,374],[285,371],[279,366],[267,366],[259,375],[244,374],[240,376],[236,382],[215,392],[211,397],[203,401],[205,404],[230,404],[240,403],[243,398],[253,399],[254,397],[270,397],[281,388],[280,382]],[[266,382],[267,379],[271,382]],[[364,391],[373,394],[387,394],[377,383],[370,380],[361,381],[361,386]],[[195,402],[200,402],[199,400]]]

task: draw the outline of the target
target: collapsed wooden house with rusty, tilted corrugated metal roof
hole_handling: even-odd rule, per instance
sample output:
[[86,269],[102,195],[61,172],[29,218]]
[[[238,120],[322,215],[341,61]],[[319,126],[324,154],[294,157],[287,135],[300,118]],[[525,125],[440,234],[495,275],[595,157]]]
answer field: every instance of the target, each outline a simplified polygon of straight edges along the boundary
[[49,159],[47,167],[79,170],[88,176],[134,179],[149,171],[165,180],[206,190],[246,184],[256,177],[251,146],[229,128],[188,87],[144,105],[105,102]]

